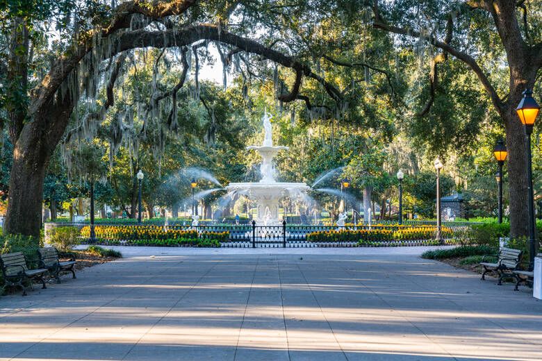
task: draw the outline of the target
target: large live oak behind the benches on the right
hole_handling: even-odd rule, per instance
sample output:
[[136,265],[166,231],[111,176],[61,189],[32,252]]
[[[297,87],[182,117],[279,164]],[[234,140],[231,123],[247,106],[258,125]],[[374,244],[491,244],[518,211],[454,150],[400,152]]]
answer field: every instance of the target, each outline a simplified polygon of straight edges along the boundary
[[[516,107],[525,88],[536,87],[542,66],[541,2],[524,0],[366,1],[373,26],[429,45],[431,92],[439,91],[438,69],[448,56],[476,74],[506,130],[511,236],[527,235],[527,142]],[[504,69],[507,83],[495,73]],[[536,87],[540,90],[540,87]]]

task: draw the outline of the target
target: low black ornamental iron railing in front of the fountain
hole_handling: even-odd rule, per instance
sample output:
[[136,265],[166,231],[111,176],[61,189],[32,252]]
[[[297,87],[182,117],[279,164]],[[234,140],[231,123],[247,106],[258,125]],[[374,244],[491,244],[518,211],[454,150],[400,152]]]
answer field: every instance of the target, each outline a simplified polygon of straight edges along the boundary
[[[303,226],[283,223],[241,225],[155,226],[99,224],[90,239],[88,224],[62,224],[81,230],[83,243],[133,246],[222,246],[222,247],[329,247],[329,246],[419,246],[467,242],[473,223],[358,224],[356,226]],[[453,225],[452,225],[453,224]],[[46,230],[47,235],[47,230]]]

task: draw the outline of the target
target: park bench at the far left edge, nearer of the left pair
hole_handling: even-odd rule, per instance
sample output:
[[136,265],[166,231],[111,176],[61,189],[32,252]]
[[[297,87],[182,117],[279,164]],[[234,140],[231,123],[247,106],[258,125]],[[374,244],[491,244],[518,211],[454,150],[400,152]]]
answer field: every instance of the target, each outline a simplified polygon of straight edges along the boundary
[[23,290],[23,296],[26,296],[26,289],[22,284],[24,280],[30,281],[30,287],[32,288],[32,280],[39,280],[43,287],[45,287],[45,281],[43,274],[47,273],[47,268],[30,269],[29,264],[38,263],[42,266],[41,260],[26,260],[24,253],[5,253],[0,255],[0,266],[2,268],[3,280],[5,285],[2,287],[2,294],[7,286],[20,286]]

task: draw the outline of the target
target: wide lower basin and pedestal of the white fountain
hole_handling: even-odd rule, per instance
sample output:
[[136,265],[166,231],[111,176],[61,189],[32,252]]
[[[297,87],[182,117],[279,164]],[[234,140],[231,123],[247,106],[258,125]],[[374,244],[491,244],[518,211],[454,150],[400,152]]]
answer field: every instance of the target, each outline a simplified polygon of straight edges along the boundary
[[[256,207],[258,210],[256,224],[259,226],[280,225],[281,220],[279,219],[279,199],[287,195],[305,193],[309,189],[310,187],[305,183],[285,182],[230,183],[226,187],[228,192],[237,191],[256,202]],[[266,217],[267,214],[268,216]]]

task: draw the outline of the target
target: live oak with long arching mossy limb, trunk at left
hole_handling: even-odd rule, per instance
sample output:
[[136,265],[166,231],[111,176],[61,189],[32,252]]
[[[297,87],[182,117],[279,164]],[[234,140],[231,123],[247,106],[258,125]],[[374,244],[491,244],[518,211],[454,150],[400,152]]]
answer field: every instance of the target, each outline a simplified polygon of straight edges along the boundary
[[[329,1],[299,1],[286,7],[275,6],[273,1],[134,0],[117,6],[115,1],[109,6],[109,2],[92,0],[36,3],[38,7],[0,3],[6,24],[2,42],[7,45],[2,48],[0,79],[3,94],[8,94],[1,99],[6,110],[2,124],[8,124],[14,146],[4,228],[7,233],[38,235],[44,174],[56,144],[65,135],[78,103],[95,99],[97,87],[104,85],[106,101],[97,112],[82,119],[87,123],[82,124],[81,134],[89,136],[95,132],[90,121],[104,117],[113,105],[115,81],[126,63],[134,63],[132,49],[184,49],[197,58],[193,49],[197,42],[215,42],[224,46],[224,64],[231,61],[240,63],[240,68],[245,65],[245,74],[249,73],[249,62],[264,59],[292,69],[295,80],[281,88],[277,94],[280,101],[296,100],[303,78],[322,84],[335,103],[340,104],[343,99],[333,84],[313,72],[307,62],[297,60],[304,45],[299,41],[302,37],[288,33],[284,25],[286,19],[299,12],[306,19],[313,19],[306,22],[313,26],[325,17]],[[232,14],[243,19],[237,28],[228,24]],[[60,36],[50,39],[54,51],[47,54],[46,60],[34,60],[37,55],[33,49],[44,43],[40,28],[44,33],[55,22]],[[249,35],[254,35],[254,29],[262,28],[262,24],[270,35],[282,37],[283,42],[288,40],[288,47],[269,41],[266,46],[265,36],[261,42],[252,39]],[[305,33],[311,32],[308,28]],[[197,64],[196,59],[196,67]],[[158,98],[169,99],[174,109],[176,93],[183,82],[181,78],[179,85],[158,94]]]

